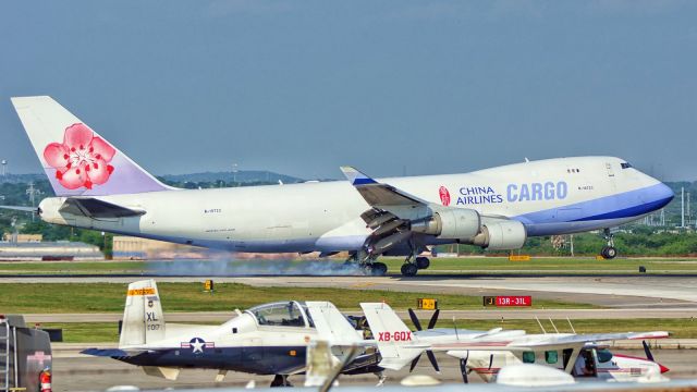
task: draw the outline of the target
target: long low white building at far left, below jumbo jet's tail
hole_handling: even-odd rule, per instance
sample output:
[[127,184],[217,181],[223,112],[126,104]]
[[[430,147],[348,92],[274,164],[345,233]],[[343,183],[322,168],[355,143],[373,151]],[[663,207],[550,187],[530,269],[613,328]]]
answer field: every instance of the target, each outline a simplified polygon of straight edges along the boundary
[[0,261],[103,259],[98,246],[81,242],[0,242]]

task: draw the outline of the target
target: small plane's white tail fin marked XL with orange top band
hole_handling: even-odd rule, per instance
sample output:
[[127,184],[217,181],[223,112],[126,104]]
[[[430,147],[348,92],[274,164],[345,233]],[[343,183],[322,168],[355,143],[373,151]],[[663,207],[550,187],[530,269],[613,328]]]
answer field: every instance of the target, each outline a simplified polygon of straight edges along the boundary
[[164,339],[164,314],[154,279],[129,284],[119,348]]

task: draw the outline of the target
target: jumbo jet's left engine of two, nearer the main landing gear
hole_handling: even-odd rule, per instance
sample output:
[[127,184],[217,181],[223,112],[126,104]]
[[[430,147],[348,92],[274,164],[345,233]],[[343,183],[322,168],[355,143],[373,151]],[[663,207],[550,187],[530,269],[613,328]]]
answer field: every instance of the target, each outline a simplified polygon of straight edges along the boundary
[[470,241],[481,228],[479,212],[473,209],[449,208],[437,211],[428,219],[412,221],[412,231],[440,238]]

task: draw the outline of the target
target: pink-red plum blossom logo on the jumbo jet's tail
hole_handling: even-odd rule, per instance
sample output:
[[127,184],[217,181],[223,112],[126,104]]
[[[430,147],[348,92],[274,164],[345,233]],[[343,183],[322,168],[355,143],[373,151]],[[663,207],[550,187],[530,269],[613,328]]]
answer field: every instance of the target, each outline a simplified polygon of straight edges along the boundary
[[56,169],[56,179],[68,189],[101,185],[109,181],[113,167],[109,164],[117,150],[85,124],[65,128],[63,143],[51,143],[44,149],[44,159]]

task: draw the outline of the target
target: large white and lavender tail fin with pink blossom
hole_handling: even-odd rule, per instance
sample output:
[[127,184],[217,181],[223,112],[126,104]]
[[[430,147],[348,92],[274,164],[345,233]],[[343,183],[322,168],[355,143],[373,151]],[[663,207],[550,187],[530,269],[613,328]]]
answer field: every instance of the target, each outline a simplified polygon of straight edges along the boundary
[[14,97],[12,105],[57,196],[171,189],[51,97]]

